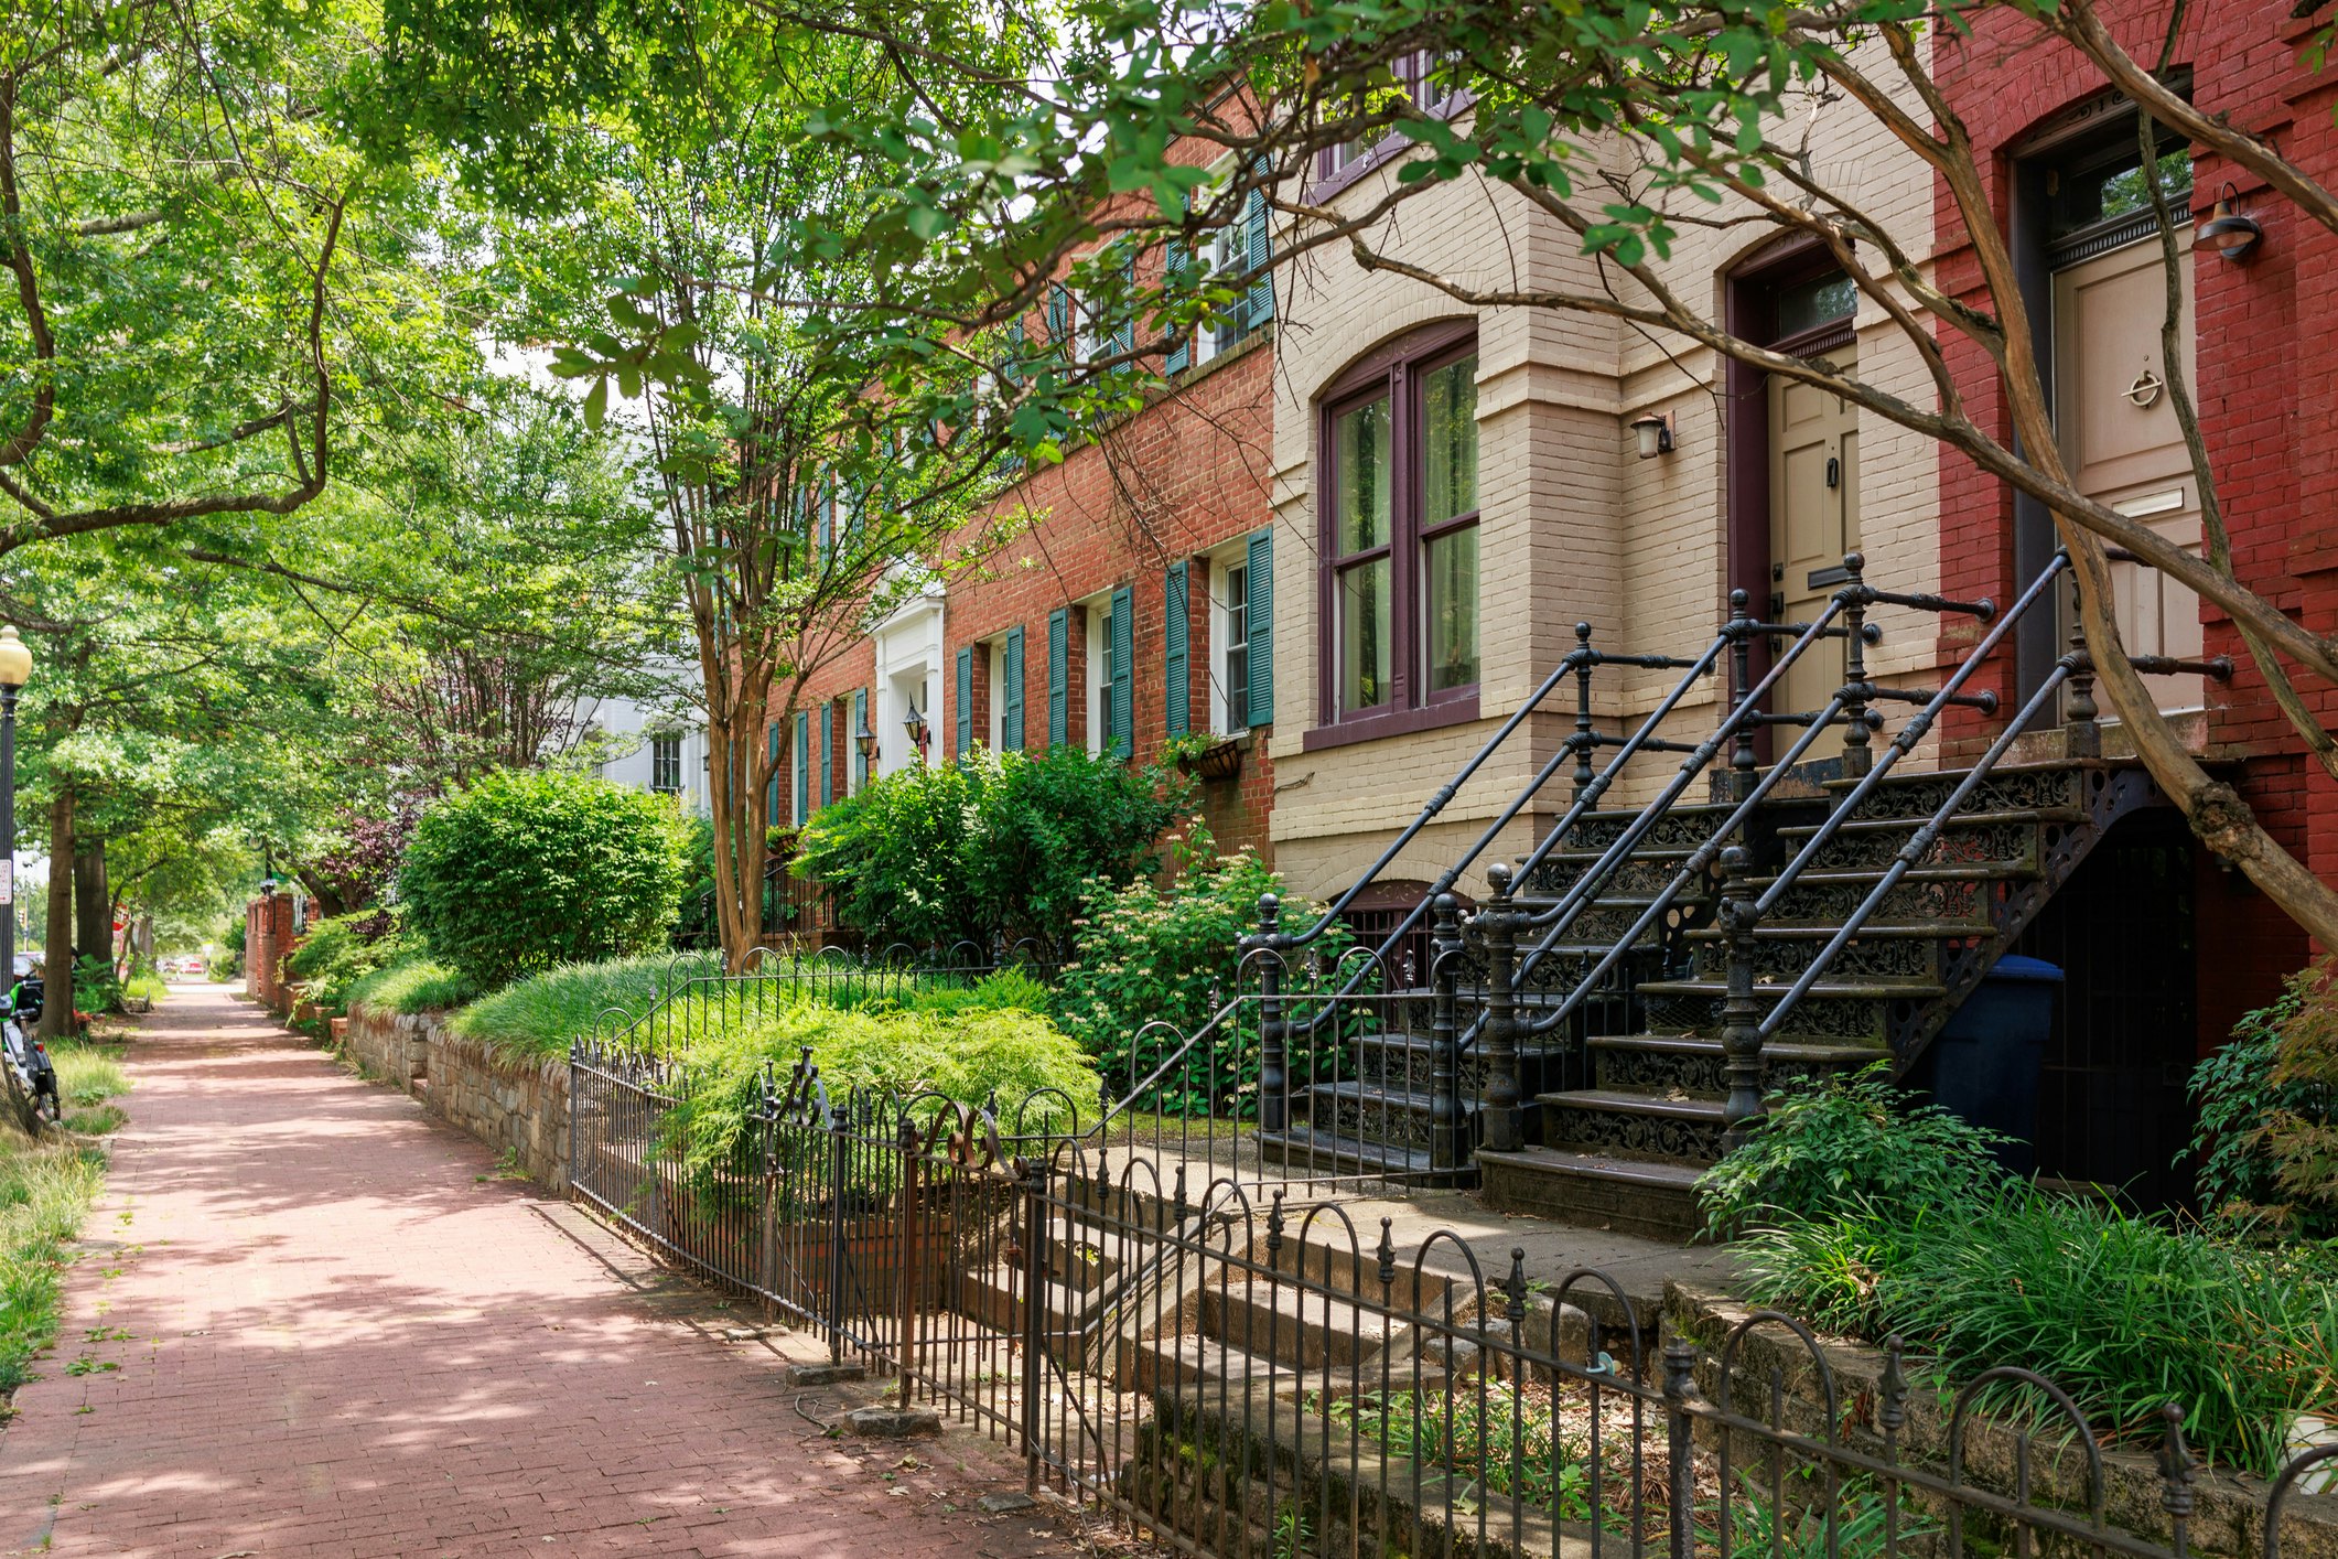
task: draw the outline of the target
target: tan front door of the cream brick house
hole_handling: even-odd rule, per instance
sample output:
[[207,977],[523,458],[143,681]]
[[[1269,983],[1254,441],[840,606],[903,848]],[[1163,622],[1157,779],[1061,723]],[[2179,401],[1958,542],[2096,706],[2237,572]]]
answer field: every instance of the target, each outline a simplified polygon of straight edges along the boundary
[[[1856,372],[1854,348],[1828,353]],[[1770,612],[1772,622],[1810,622],[1842,584],[1842,554],[1859,547],[1859,407],[1807,383],[1770,381]],[[1758,603],[1756,603],[1758,605]],[[1777,640],[1784,654],[1791,640]],[[1824,708],[1842,687],[1842,643],[1819,640],[1786,668],[1770,694],[1777,713]],[[1772,750],[1800,736],[1782,727]],[[1842,750],[1831,729],[1805,757]]]

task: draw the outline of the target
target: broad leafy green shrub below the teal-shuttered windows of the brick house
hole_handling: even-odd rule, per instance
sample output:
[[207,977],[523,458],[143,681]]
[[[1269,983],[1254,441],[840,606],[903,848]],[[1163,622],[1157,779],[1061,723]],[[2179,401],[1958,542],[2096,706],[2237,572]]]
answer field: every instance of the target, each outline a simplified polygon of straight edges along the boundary
[[989,949],[991,933],[1059,947],[1087,879],[1127,884],[1190,809],[1174,769],[1075,748],[977,750],[909,764],[823,806],[797,834],[795,874],[821,884],[872,944]]

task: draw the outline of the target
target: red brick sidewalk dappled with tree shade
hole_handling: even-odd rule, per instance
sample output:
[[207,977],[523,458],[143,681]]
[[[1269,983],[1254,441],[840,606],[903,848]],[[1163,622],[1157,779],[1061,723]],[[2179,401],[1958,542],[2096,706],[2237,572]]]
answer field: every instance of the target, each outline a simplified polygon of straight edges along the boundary
[[975,1510],[1019,1489],[977,1437],[823,1437],[802,1412],[844,1402],[774,1349],[648,1302],[482,1145],[224,989],[175,989],[131,1075],[56,1356],[0,1437],[0,1552],[1075,1552]]

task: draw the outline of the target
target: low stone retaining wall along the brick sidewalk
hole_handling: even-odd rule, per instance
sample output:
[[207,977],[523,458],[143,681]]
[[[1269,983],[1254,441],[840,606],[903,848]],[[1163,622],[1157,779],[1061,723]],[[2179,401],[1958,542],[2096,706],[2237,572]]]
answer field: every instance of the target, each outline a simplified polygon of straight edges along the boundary
[[344,1052],[376,1082],[470,1131],[531,1180],[568,1190],[568,1063],[521,1066],[447,1033],[444,1012],[351,1007]]

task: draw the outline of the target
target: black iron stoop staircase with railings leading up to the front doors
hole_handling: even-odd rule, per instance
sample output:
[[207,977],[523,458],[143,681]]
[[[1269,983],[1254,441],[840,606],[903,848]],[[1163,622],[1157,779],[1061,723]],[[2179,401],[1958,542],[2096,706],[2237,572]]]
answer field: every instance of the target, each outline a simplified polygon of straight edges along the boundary
[[[1754,1124],[1770,1087],[1875,1061],[1905,1075],[2111,825],[2165,799],[2135,764],[2102,760],[2083,647],[2004,711],[2004,734],[1969,767],[1908,762],[1945,711],[2001,713],[1976,675],[2004,664],[1992,657],[2015,622],[2053,610],[2067,559],[2055,556],[2004,610],[1875,589],[1856,554],[1845,573],[1807,624],[1756,622],[1732,594],[1728,624],[1693,659],[1606,657],[1578,629],[1578,652],[1382,858],[1393,860],[1517,722],[1576,678],[1576,736],[1372,961],[1393,975],[1393,949],[1426,916],[1426,986],[1389,979],[1403,1000],[1379,1003],[1382,1021],[1344,1040],[1342,1075],[1291,1080],[1288,1056],[1323,1007],[1281,1012],[1267,982],[1265,1152],[1398,1180],[1452,1183],[1475,1169],[1496,1208],[1681,1239],[1700,1225],[1695,1178]],[[1866,673],[1877,605],[1966,615],[1985,631],[1938,690],[1889,690]],[[1756,678],[1758,643],[1777,652]],[[1784,671],[1817,645],[1840,645],[1842,687],[1826,708],[1772,713]],[[1723,657],[1732,697],[1718,727],[1697,743],[1658,736]],[[1618,661],[1686,675],[1627,736],[1595,734],[1590,673]],[[2223,659],[2137,657],[2137,668],[2230,675]],[[2013,760],[2022,732],[2050,720],[2064,692],[2062,753]],[[1891,722],[1877,706],[1891,704],[1912,713],[1884,739]],[[1761,727],[1796,734],[1779,739],[1784,753],[1768,769]],[[1819,767],[1805,755],[1828,729],[1842,732],[1842,764],[1814,785]],[[1616,755],[1595,771],[1597,748]],[[1681,753],[1679,774],[1641,809],[1602,809],[1641,753]],[[1573,804],[1515,867],[1487,867],[1492,891],[1464,916],[1450,888],[1566,757]],[[1253,956],[1286,963],[1377,872],[1305,930],[1286,933],[1270,905],[1248,940]]]

